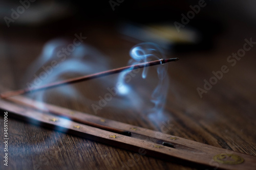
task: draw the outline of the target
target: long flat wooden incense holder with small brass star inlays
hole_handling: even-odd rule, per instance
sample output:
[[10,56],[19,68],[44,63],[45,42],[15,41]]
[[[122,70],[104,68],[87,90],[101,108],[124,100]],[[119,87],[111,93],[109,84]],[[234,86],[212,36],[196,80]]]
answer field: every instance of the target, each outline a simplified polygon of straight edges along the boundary
[[[29,122],[31,120],[37,121],[48,128],[133,151],[140,155],[149,155],[170,161],[178,158],[178,160],[186,160],[187,162],[223,169],[255,169],[256,167],[256,157],[251,155],[212,147],[211,145],[178,136],[163,134],[87,113],[46,103],[38,103],[23,96],[14,96],[8,98],[8,100],[12,102],[0,99],[0,108],[12,113],[9,115]],[[36,106],[44,106],[42,107],[44,109],[39,111]],[[74,120],[76,119],[80,119],[80,123],[75,122]],[[84,125],[82,124],[83,120],[131,132],[131,136]]]

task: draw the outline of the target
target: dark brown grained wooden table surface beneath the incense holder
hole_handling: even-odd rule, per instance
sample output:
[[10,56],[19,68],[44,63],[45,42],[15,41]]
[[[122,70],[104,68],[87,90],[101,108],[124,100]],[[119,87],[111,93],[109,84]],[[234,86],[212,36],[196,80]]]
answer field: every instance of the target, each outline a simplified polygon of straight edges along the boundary
[[[109,62],[108,68],[125,66],[130,59],[129,51],[135,45],[123,39],[114,26],[104,23],[65,30],[59,33],[51,32],[50,28],[42,31],[37,27],[2,29],[0,92],[4,91],[3,87],[12,90],[26,87],[26,75],[34,75],[34,72],[26,71],[42,53],[48,40],[54,37],[65,35],[72,42],[74,34],[81,33],[87,37],[83,43],[97,48]],[[256,156],[256,44],[234,66],[227,62],[229,55],[243,48],[245,38],[256,41],[255,31],[240,25],[215,37],[215,48],[211,51],[167,55],[166,58],[179,57],[180,60],[168,63],[169,85],[163,119],[152,120],[145,112],[154,106],[149,100],[156,85],[154,68],[145,81],[141,80],[141,72],[131,81],[139,98],[143,99],[139,106],[133,102],[136,99],[115,96],[113,101],[97,111],[97,116]],[[221,70],[223,65],[229,71],[200,98],[197,88],[203,88],[204,79],[209,80],[213,76],[212,71]],[[99,66],[95,70],[104,68]],[[99,96],[104,96],[107,88],[115,85],[117,76],[108,77],[113,82],[104,83],[102,80],[105,79],[102,79],[72,85],[80,95],[64,96],[56,89],[50,89],[46,92],[45,102],[94,114],[91,104],[97,104]],[[65,90],[68,87],[60,88]],[[3,119],[1,116],[2,132]],[[1,142],[0,169],[196,169],[172,160],[148,156],[136,159],[133,152],[11,117],[8,117],[8,124],[8,167],[2,161],[4,144]],[[2,132],[0,141],[3,141]]]

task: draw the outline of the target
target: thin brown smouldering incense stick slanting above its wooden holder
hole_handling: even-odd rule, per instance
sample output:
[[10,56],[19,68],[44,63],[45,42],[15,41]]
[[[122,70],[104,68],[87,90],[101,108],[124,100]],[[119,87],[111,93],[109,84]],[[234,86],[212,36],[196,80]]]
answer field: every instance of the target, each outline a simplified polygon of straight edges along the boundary
[[129,69],[133,70],[133,69],[138,69],[138,68],[143,68],[143,67],[148,67],[148,66],[153,66],[153,65],[158,65],[158,64],[164,64],[164,63],[167,63],[170,61],[178,61],[178,60],[179,60],[179,58],[160,59],[160,60],[135,64],[135,65],[125,66],[125,67],[120,67],[120,68],[116,68],[116,69],[98,72],[98,73],[92,74],[92,75],[87,75],[87,76],[72,78],[72,79],[59,81],[59,82],[55,82],[55,83],[50,83],[50,84],[46,84],[43,86],[25,88],[25,89],[20,89],[20,90],[15,90],[15,91],[7,91],[4,93],[1,93],[0,97],[2,99],[5,99],[5,98],[9,98],[10,96],[14,96],[14,95],[25,94],[25,93],[33,92],[33,91],[37,91],[37,90],[48,89],[48,88],[53,88],[53,87],[57,87],[57,86],[61,86],[61,85],[72,84],[72,83],[91,80],[91,79],[95,79],[95,78],[99,78],[99,77],[103,77],[103,76],[107,76],[107,75],[112,75],[112,74],[116,74],[116,73],[124,71],[124,70],[129,70]]

